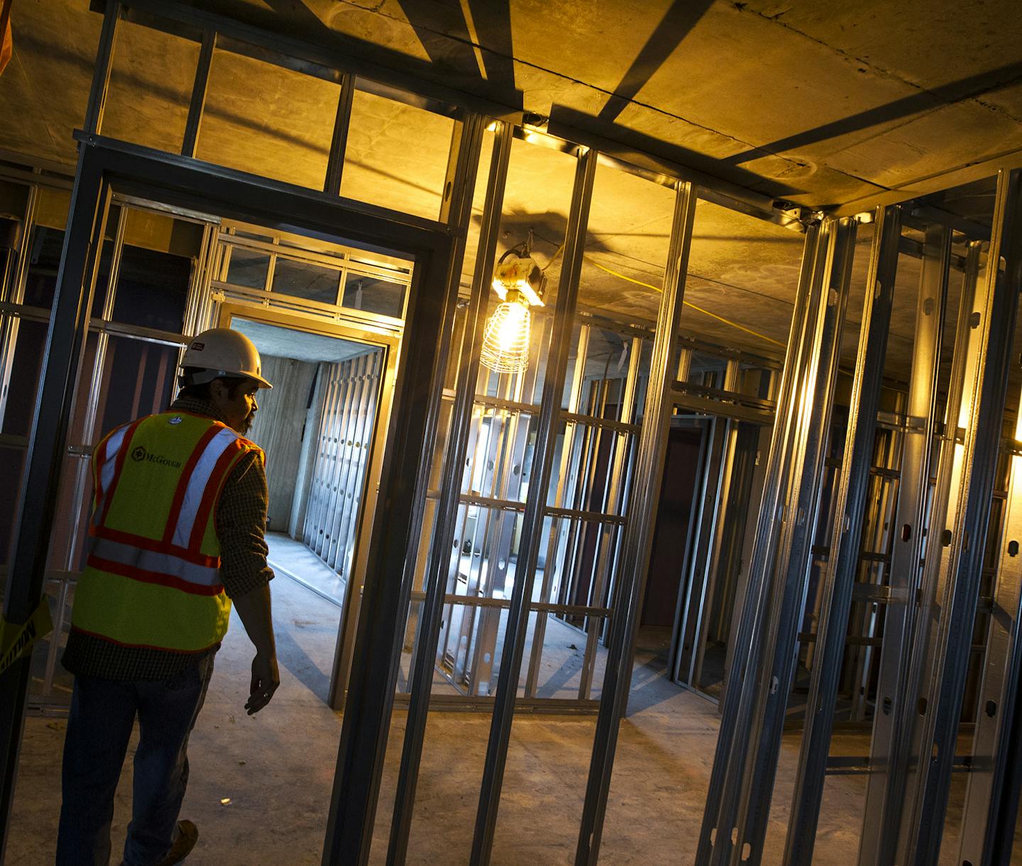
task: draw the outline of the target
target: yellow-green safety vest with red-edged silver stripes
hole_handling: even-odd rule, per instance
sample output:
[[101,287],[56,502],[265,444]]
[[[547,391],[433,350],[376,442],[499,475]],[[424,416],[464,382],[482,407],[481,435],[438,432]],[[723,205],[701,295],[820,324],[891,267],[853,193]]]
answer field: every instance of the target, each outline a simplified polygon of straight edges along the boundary
[[72,626],[127,646],[197,652],[223,639],[231,602],[215,526],[224,481],[263,451],[230,427],[164,412],[109,432],[92,457],[89,555]]

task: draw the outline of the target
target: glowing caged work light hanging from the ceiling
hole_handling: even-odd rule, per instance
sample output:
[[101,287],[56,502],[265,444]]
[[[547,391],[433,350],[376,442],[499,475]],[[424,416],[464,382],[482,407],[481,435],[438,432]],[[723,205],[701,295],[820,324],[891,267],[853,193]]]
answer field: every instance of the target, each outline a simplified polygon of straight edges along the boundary
[[546,281],[528,255],[531,239],[529,232],[528,240],[507,250],[494,268],[494,291],[501,303],[486,322],[479,361],[498,373],[521,373],[528,367],[529,308],[543,306]]

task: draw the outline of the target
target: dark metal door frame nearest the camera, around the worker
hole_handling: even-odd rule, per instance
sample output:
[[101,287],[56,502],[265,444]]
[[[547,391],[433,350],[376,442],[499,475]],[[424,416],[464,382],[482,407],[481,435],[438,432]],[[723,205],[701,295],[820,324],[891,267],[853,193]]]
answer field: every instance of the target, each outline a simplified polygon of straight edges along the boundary
[[[224,216],[257,219],[283,229],[335,237],[407,254],[415,263],[409,325],[394,380],[393,411],[381,461],[374,514],[378,535],[366,555],[366,586],[353,649],[353,689],[341,729],[334,777],[327,857],[332,838],[368,849],[383,750],[393,703],[390,671],[400,619],[406,550],[414,543],[415,490],[423,443],[435,413],[409,411],[431,405],[436,352],[453,316],[449,267],[458,239],[446,223],[342,199],[291,184],[199,163],[191,157],[78,133],[80,156],[47,336],[19,518],[10,557],[3,614],[25,623],[42,598],[46,554],[54,521],[60,457],[98,268],[97,238],[110,199],[127,193]],[[196,207],[197,206],[197,207]],[[394,657],[391,657],[394,656]],[[6,846],[25,726],[30,659],[0,675],[0,859]]]

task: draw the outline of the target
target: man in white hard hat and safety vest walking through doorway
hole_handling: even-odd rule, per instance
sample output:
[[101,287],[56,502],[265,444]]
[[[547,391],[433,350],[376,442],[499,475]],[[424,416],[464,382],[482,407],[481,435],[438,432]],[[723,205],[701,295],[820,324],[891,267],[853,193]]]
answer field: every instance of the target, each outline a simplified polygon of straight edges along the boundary
[[92,458],[92,520],[62,664],[75,675],[58,864],[106,864],[113,794],[137,716],[128,866],[178,863],[198,832],[178,814],[188,735],[231,602],[256,646],[245,709],[280,682],[264,540],[264,455],[243,438],[272,388],[244,334],[189,344],[167,412],[110,431]]

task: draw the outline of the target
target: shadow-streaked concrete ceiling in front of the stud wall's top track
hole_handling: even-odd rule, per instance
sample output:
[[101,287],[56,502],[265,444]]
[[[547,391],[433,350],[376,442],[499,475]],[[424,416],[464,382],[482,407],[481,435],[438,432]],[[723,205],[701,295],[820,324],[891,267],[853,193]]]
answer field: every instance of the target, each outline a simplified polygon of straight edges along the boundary
[[207,0],[811,207],[1022,147],[1015,0]]

